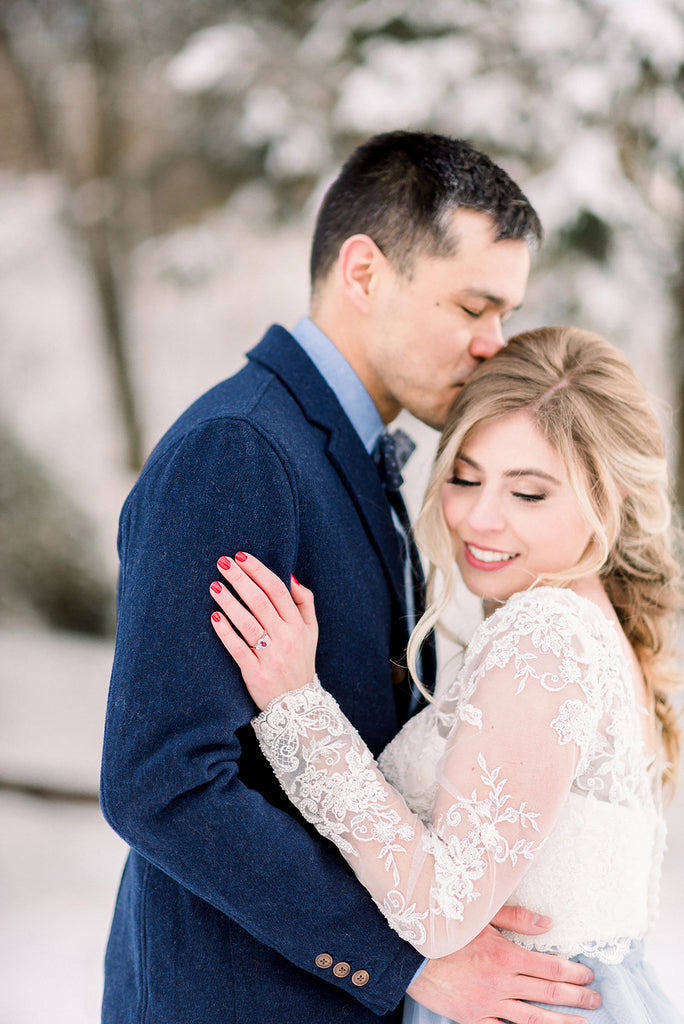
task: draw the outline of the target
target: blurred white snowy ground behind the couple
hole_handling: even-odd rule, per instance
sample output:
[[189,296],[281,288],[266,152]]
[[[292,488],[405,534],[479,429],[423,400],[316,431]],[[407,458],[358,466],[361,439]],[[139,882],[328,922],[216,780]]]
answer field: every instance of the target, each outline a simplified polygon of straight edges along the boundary
[[[106,360],[87,278],[51,178],[0,178],[0,414],[87,513],[114,580],[122,467]],[[253,215],[254,214],[254,215]],[[261,232],[258,216],[148,246],[131,310],[146,446],[205,387],[231,373],[272,319],[306,305],[307,230]],[[173,276],[173,281],[171,281]],[[177,282],[182,279],[183,287]],[[412,424],[415,511],[434,435]],[[35,623],[0,629],[0,778],[95,793],[112,645]],[[662,916],[650,941],[684,1008],[684,793],[670,809]],[[94,1024],[123,844],[94,802],[0,790],[0,1024]]]

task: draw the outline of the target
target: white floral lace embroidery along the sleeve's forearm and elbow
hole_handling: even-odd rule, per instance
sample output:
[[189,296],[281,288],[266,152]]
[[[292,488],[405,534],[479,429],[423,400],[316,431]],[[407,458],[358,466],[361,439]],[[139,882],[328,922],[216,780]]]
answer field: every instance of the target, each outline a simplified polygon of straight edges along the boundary
[[[370,751],[355,732],[349,737],[350,727],[330,693],[317,680],[286,693],[256,720],[255,729],[302,815],[351,858],[362,857],[362,846],[374,844],[375,855],[398,886],[396,858],[405,852],[405,841],[413,840],[416,830],[387,806],[387,787],[372,770]],[[352,739],[350,744],[337,739],[343,733]],[[511,806],[501,768],[488,769],[481,755],[477,763],[487,798],[477,799],[473,793],[469,799],[456,801],[421,839],[424,852],[434,857],[432,910],[454,921],[462,921],[465,904],[478,898],[475,884],[485,874],[489,858],[515,864],[519,857],[531,859],[543,845],[523,838],[510,843],[502,834],[504,822],[539,831],[539,813],[524,802],[517,808]],[[289,775],[291,780],[286,783]],[[456,830],[463,821],[467,821],[469,831],[461,840]],[[345,839],[345,833],[353,842]],[[418,944],[425,941],[423,920],[427,911],[420,912],[414,903],[408,903],[397,889],[387,893],[381,909],[402,938]]]

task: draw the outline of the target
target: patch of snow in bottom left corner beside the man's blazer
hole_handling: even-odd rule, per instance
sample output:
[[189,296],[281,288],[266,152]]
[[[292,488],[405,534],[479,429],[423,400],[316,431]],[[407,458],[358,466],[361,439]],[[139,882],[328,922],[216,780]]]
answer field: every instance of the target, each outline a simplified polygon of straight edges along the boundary
[[125,858],[96,804],[0,793],[0,1020],[95,1024]]

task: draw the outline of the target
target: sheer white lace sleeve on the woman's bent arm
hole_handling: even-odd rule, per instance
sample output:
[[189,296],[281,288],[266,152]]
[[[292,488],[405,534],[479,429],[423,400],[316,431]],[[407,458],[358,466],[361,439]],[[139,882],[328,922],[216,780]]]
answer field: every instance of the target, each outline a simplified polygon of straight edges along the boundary
[[505,902],[595,732],[582,686],[591,651],[567,614],[523,608],[489,623],[464,665],[427,824],[317,680],[254,722],[290,800],[336,844],[392,928],[431,957],[468,943]]

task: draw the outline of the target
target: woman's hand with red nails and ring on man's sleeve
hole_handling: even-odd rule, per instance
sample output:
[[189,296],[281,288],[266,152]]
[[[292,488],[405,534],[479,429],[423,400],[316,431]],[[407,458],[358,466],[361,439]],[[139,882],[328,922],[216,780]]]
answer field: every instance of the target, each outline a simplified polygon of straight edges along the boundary
[[244,551],[234,559],[219,558],[217,565],[230,589],[212,583],[211,596],[223,614],[215,611],[211,624],[263,711],[274,697],[313,680],[318,639],[313,595],[294,577],[290,593],[282,580]]

